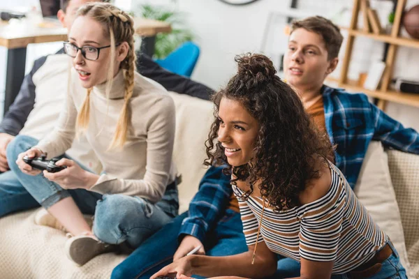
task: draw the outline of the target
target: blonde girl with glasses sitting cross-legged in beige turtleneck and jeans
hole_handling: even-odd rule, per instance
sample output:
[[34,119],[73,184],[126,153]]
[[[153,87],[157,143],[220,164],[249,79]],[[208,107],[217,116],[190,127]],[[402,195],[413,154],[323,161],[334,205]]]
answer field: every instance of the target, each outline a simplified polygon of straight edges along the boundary
[[[36,223],[62,225],[72,236],[66,254],[79,265],[121,243],[136,248],[177,215],[175,107],[162,86],[135,72],[133,34],[132,18],[115,6],[82,6],[64,43],[73,67],[57,127],[38,143],[16,137],[8,149],[10,169],[48,211]],[[65,156],[80,133],[101,174]],[[24,156],[58,156],[65,168],[41,172]],[[94,214],[92,228],[82,213]]]

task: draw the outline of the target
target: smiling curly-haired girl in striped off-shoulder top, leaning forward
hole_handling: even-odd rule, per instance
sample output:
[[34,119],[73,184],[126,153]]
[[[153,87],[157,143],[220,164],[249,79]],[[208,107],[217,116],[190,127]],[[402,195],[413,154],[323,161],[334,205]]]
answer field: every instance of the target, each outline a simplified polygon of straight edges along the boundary
[[328,137],[272,61],[259,54],[236,61],[237,75],[214,95],[206,163],[228,166],[249,251],[189,255],[153,278],[266,278],[277,255],[300,262],[301,278],[406,278],[392,243],[333,165]]

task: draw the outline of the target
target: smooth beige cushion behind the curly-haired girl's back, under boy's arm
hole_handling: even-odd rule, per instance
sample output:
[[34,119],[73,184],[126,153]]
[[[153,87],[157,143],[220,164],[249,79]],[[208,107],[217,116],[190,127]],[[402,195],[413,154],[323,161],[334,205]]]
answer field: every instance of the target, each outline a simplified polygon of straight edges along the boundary
[[409,271],[402,218],[390,178],[387,154],[381,142],[369,144],[354,192],[373,220],[390,237],[404,268]]

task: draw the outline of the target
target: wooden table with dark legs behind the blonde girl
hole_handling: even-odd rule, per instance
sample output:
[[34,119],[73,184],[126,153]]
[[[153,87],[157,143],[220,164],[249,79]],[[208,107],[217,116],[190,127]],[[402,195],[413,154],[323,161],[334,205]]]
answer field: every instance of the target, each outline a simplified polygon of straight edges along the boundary
[[[135,18],[134,27],[135,33],[142,37],[140,51],[149,56],[154,54],[156,34],[170,33],[172,31],[170,23],[143,18]],[[22,85],[27,45],[30,43],[50,43],[60,40],[67,40],[67,29],[54,25],[51,22],[35,27],[0,22],[0,46],[8,49],[3,114],[6,114],[8,111]]]

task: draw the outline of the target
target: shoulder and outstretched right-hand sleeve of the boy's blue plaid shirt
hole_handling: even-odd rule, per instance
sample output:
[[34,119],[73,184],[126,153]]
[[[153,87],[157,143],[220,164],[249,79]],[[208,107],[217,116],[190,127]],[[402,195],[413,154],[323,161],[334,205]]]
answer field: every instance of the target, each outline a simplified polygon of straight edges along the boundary
[[337,145],[335,165],[341,169],[351,188],[360,174],[369,142],[419,154],[419,134],[390,118],[363,93],[323,86],[325,126],[330,141]]

